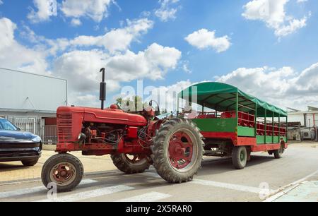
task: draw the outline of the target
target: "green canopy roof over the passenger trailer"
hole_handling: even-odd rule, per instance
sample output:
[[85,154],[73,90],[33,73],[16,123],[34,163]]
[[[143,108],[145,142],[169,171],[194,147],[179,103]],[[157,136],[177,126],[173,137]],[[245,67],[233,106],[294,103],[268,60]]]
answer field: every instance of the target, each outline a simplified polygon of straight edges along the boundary
[[287,112],[272,104],[259,100],[238,88],[225,83],[206,82],[192,85],[189,88],[179,92],[178,97],[189,98],[197,95],[197,104],[216,109],[218,111],[227,111],[236,109],[236,95],[239,95],[240,110],[243,112],[253,112],[257,104],[257,116],[287,116]]

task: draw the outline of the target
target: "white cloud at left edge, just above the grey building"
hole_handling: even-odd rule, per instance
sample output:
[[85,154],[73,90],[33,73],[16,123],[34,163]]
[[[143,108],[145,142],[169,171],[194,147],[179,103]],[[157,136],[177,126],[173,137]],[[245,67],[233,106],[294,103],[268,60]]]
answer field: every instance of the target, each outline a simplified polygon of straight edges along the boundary
[[0,65],[47,75],[46,54],[41,49],[29,49],[15,40],[17,25],[8,18],[0,19]]

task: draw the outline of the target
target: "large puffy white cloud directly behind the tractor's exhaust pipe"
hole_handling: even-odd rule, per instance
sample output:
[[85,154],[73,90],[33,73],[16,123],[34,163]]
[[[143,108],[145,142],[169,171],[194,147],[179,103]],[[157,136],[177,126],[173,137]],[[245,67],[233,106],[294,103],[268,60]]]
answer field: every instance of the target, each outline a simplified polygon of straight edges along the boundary
[[[119,90],[120,83],[131,80],[163,78],[167,71],[176,68],[181,52],[172,47],[151,44],[143,52],[110,56],[98,49],[75,50],[61,55],[54,62],[54,74],[69,80],[69,88],[76,98],[73,104],[84,102],[85,95],[96,95],[102,67],[106,68],[107,90]],[[81,94],[79,93],[81,92]]]

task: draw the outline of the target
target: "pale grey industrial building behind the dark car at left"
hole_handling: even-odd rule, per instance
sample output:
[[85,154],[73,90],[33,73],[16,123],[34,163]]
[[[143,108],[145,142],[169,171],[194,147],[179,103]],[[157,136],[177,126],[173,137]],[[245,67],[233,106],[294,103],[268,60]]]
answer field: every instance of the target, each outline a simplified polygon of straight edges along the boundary
[[56,143],[57,107],[67,105],[67,80],[0,68],[0,117]]

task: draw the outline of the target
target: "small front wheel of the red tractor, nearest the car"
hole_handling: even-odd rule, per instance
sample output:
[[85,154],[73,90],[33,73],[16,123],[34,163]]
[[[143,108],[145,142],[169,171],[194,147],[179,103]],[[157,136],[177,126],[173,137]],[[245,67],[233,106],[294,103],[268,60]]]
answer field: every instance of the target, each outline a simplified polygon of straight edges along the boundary
[[80,184],[84,174],[83,164],[77,157],[69,154],[54,155],[42,167],[42,183],[57,184],[58,192],[71,191]]

